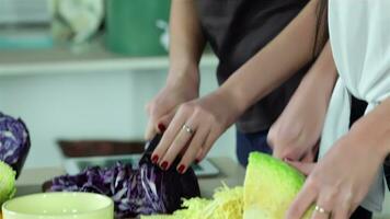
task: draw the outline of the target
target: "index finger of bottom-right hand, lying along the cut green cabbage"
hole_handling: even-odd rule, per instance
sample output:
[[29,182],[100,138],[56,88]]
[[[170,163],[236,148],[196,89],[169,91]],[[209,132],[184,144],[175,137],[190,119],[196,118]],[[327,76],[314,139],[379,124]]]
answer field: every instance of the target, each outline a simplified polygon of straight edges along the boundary
[[292,201],[290,208],[287,210],[286,219],[300,219],[309,207],[314,203],[318,194],[317,186],[307,181],[302,189],[298,193],[296,199]]

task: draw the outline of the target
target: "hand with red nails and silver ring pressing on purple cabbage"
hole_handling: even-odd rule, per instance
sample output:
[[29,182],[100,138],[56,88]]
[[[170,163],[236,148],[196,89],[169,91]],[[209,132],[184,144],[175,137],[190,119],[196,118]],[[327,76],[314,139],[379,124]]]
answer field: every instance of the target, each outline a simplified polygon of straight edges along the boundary
[[[238,117],[239,113],[231,100],[217,90],[205,97],[182,104],[156,148],[152,161],[168,170],[182,153],[176,166],[180,173],[184,173],[194,160],[200,161]],[[184,125],[187,130],[183,128]]]

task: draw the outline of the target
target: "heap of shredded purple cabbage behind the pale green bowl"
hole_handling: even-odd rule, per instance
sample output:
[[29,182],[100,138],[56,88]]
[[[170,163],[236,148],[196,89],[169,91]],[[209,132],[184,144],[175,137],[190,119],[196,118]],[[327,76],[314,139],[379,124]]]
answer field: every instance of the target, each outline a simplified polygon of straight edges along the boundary
[[54,178],[49,191],[106,195],[114,200],[117,218],[171,214],[181,207],[182,198],[200,195],[192,169],[181,175],[173,168],[162,171],[150,162],[141,162],[139,169],[122,163],[107,169],[89,168],[78,175]]

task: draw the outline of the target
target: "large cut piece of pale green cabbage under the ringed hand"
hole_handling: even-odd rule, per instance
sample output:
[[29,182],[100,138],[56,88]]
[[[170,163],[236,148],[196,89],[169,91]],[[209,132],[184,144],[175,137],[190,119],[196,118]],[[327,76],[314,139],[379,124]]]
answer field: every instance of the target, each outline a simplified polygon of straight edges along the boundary
[[[244,182],[243,218],[285,218],[305,180],[300,172],[280,160],[260,152],[251,153]],[[308,215],[305,218],[309,218]]]

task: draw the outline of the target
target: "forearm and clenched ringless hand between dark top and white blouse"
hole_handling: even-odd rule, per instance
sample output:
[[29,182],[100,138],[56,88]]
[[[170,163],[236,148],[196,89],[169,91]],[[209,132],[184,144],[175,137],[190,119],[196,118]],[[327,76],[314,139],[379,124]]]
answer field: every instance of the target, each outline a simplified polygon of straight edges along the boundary
[[269,129],[267,140],[276,158],[313,158],[317,151],[311,149],[320,138],[336,78],[332,49],[328,43]]

